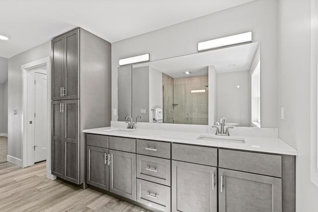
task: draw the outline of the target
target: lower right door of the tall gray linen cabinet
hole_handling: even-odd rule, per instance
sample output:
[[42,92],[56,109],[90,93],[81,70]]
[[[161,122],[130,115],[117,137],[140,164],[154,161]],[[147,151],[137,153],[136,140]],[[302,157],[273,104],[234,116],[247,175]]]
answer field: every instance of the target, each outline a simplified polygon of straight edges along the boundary
[[79,184],[79,100],[64,102],[65,180]]

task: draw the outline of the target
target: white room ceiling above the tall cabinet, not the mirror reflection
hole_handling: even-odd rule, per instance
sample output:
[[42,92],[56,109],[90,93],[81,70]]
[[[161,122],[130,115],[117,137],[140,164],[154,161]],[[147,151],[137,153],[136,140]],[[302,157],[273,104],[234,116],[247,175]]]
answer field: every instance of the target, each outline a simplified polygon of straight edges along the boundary
[[1,0],[0,57],[82,27],[113,43],[252,0]]

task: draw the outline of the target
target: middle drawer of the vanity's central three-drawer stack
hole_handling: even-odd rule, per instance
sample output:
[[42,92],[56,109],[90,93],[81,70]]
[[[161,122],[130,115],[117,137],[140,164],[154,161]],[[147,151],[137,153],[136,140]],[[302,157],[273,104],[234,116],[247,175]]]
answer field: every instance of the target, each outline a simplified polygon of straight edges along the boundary
[[137,177],[160,183],[171,184],[171,161],[158,157],[137,154]]

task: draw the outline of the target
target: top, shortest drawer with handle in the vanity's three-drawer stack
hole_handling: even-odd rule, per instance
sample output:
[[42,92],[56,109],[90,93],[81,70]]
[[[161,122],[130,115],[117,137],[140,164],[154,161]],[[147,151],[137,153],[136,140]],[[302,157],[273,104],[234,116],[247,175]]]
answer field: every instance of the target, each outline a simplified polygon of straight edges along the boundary
[[137,153],[170,159],[170,142],[137,139]]

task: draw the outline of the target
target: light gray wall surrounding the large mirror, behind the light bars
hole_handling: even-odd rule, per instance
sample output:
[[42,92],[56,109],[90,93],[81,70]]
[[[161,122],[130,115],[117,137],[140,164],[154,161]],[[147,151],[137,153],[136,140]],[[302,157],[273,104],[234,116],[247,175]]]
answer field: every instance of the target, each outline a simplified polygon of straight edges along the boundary
[[255,0],[113,43],[112,108],[117,108],[119,59],[150,53],[155,61],[192,54],[200,41],[253,31],[253,41],[262,45],[262,127],[278,127],[277,5],[277,0]]

